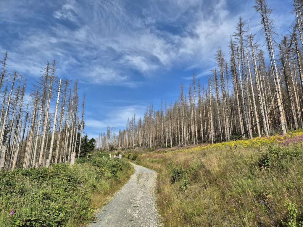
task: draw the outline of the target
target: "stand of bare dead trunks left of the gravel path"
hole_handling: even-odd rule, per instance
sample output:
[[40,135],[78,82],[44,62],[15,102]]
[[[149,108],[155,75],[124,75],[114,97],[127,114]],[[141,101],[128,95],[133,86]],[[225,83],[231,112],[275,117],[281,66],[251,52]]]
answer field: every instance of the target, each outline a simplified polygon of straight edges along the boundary
[[[0,170],[74,164],[81,153],[85,94],[79,106],[78,81],[55,76],[47,62],[25,99],[26,80],[1,60]],[[80,132],[79,132],[80,131]]]

